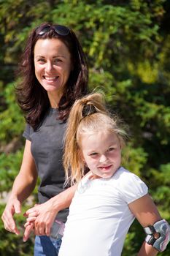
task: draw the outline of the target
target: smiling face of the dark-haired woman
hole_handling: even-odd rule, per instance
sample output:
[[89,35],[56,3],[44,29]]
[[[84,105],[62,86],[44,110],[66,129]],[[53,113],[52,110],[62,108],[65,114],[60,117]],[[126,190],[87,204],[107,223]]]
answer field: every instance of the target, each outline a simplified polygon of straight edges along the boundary
[[34,47],[34,66],[36,78],[49,99],[59,102],[72,69],[66,45],[60,39],[38,39]]

